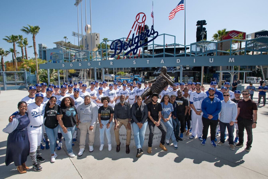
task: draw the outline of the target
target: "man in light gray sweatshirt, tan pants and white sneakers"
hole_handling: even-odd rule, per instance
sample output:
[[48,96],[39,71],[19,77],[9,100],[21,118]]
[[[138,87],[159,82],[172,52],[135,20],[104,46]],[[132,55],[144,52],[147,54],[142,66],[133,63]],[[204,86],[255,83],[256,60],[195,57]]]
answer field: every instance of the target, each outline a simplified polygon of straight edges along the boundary
[[89,152],[93,152],[93,144],[95,139],[95,131],[97,126],[98,118],[98,107],[95,103],[90,101],[90,96],[86,95],[84,103],[77,107],[77,114],[79,123],[76,123],[80,129],[80,143],[78,156],[82,156],[86,147],[86,136],[87,133],[89,138]]

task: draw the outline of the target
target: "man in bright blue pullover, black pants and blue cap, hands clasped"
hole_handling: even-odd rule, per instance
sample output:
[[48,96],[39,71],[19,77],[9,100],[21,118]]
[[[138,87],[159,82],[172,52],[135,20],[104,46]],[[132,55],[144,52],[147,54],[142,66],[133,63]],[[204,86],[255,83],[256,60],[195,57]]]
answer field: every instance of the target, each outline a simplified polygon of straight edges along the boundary
[[[213,147],[217,147],[215,144],[216,127],[218,125],[219,113],[222,108],[222,103],[219,98],[215,97],[215,89],[208,89],[209,96],[206,97],[201,104],[201,110],[203,111],[202,122],[203,122],[203,141],[202,145],[206,144],[208,137],[208,127],[210,127],[210,140]],[[221,92],[220,92],[221,93]]]

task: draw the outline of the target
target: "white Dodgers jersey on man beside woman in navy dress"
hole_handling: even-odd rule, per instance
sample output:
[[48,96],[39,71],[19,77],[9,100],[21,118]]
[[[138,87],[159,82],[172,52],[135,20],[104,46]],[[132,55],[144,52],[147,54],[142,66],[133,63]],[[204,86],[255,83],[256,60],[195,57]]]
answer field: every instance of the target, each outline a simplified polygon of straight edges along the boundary
[[30,119],[30,124],[28,126],[40,126],[44,123],[44,113],[45,105],[41,104],[40,106],[35,103],[31,103],[27,108],[28,117]]

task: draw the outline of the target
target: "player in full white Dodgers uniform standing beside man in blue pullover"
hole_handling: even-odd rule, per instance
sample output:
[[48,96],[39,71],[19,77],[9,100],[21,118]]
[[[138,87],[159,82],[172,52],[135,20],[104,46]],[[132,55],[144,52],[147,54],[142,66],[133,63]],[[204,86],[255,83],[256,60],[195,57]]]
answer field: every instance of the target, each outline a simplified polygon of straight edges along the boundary
[[202,129],[203,129],[203,122],[202,122],[202,115],[203,112],[201,110],[201,104],[203,99],[205,99],[208,95],[201,91],[201,84],[199,82],[196,83],[196,91],[192,92],[190,95],[190,105],[192,107],[192,136],[190,139],[193,139],[196,134],[200,141],[202,139]]

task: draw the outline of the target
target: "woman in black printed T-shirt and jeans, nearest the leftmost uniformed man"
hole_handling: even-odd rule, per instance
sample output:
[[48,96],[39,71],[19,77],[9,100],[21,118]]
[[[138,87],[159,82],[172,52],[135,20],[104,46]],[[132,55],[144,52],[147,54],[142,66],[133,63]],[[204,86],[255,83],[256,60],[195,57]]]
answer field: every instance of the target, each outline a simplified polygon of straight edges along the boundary
[[54,163],[58,156],[55,152],[59,123],[57,120],[58,105],[56,104],[57,98],[51,96],[48,103],[46,103],[45,114],[44,114],[44,126],[46,135],[50,141],[50,154],[51,162]]

